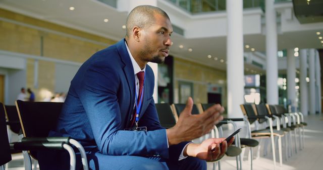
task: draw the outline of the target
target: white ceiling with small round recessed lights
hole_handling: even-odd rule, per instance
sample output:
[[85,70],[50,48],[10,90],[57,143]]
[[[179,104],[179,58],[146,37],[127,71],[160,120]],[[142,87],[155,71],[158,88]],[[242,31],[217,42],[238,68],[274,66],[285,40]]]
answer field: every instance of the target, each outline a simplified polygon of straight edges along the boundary
[[[70,11],[69,7],[75,7]],[[122,26],[125,24],[127,12],[119,12],[117,9],[96,0],[0,0],[0,8],[8,9],[17,13],[34,18],[57,23],[70,28],[93,33],[116,41],[125,35]],[[104,23],[105,18],[109,22]],[[172,20],[172,19],[171,19]],[[317,40],[315,31],[298,31],[278,34],[278,49],[286,48],[322,48]],[[226,60],[226,36],[210,38],[187,39],[181,35],[173,34],[174,45],[171,47],[171,55],[185,58],[194,62],[202,63],[217,69],[225,70]],[[257,51],[265,51],[265,35],[244,35],[244,42],[252,44]],[[182,44],[183,49],[178,48]],[[188,48],[193,48],[192,52]],[[245,52],[250,51],[245,49]],[[207,58],[207,55],[217,56],[219,59]],[[245,68],[252,67],[245,64]],[[257,69],[257,67],[253,67]],[[249,69],[250,70],[250,69]],[[257,70],[265,72],[264,70]]]

